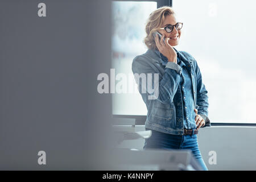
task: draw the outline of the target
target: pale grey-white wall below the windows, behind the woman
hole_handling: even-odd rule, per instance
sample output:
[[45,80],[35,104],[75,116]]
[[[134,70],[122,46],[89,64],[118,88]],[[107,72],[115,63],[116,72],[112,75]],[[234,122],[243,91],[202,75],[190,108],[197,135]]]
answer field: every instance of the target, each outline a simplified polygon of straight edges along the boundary
[[[122,131],[144,131],[144,125],[115,126]],[[212,126],[199,130],[201,154],[209,170],[256,170],[256,127]],[[143,149],[144,140],[126,140],[121,148]],[[209,151],[216,151],[217,164],[210,165]]]

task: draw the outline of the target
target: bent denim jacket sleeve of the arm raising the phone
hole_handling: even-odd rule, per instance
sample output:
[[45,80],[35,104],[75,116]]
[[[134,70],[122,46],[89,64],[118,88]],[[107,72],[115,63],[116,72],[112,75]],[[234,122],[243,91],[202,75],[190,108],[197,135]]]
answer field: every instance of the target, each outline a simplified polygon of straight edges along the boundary
[[[150,57],[139,55],[136,56],[133,60],[132,64],[132,71],[134,73],[135,80],[138,85],[139,92],[141,93],[141,89],[146,90],[145,94],[142,94],[142,98],[144,102],[147,101],[148,96],[151,95],[150,92],[148,92],[148,73],[151,73],[154,75],[154,73],[157,73],[159,76],[158,80],[155,80],[152,76],[152,86],[151,88],[155,88],[155,86],[158,85],[158,96],[154,98],[154,100],[158,100],[162,102],[163,104],[171,104],[175,93],[177,92],[177,88],[179,86],[180,82],[180,74],[182,71],[182,68],[177,65],[176,63],[167,63],[164,73],[160,73],[159,71],[160,64],[152,61]],[[136,78],[135,73],[138,73],[138,75],[145,74],[147,78],[147,84],[142,84],[141,81],[139,81],[138,78]],[[141,88],[141,89],[140,89]],[[145,98],[147,96],[147,98]]]

